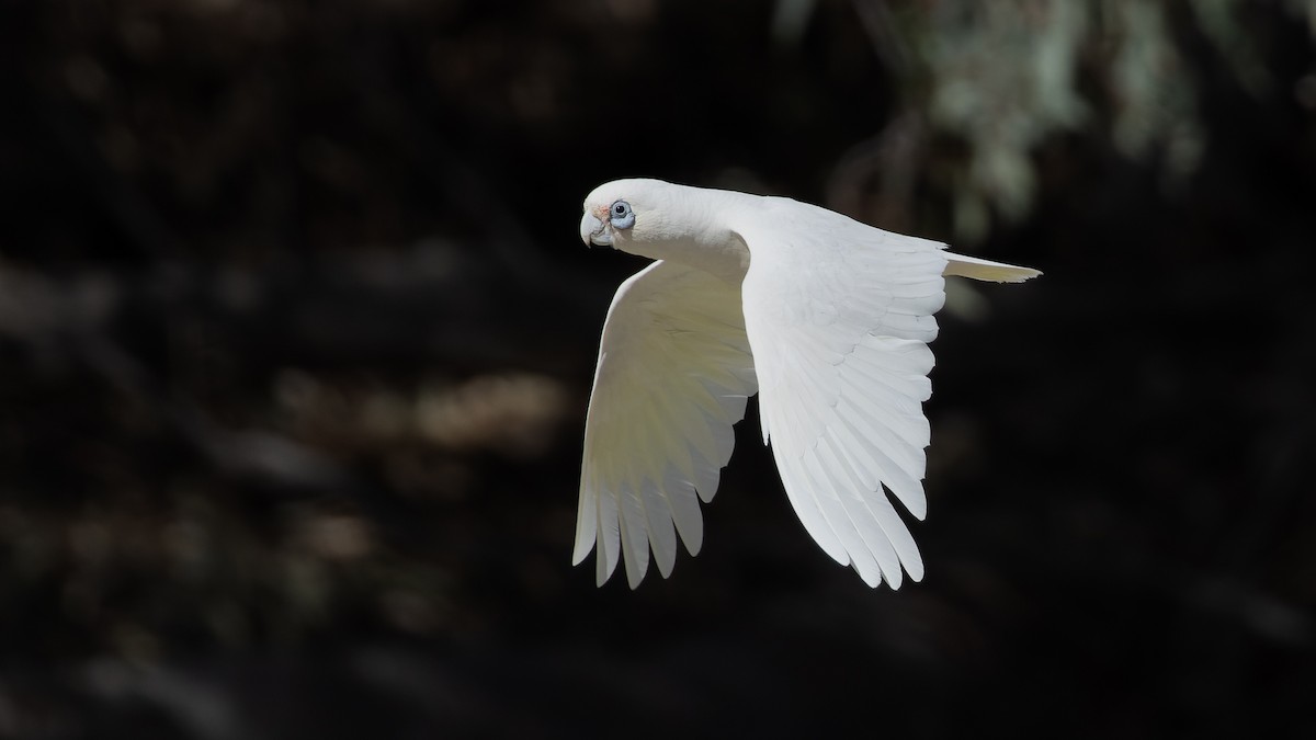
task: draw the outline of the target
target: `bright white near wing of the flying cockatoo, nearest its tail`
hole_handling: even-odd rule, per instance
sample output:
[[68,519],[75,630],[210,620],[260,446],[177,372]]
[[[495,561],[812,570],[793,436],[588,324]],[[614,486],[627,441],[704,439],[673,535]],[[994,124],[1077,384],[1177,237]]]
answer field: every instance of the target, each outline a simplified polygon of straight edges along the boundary
[[919,548],[882,486],[924,517],[921,404],[946,253],[792,200],[753,216],[734,225],[750,250],[745,327],[791,504],[870,586],[899,587],[901,565],[919,581]]

